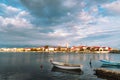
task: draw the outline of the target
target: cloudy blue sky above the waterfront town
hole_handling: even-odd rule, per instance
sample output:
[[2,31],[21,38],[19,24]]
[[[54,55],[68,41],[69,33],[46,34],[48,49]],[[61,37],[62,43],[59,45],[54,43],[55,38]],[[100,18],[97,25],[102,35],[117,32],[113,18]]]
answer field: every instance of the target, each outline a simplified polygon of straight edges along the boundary
[[120,0],[0,0],[0,47],[120,49]]

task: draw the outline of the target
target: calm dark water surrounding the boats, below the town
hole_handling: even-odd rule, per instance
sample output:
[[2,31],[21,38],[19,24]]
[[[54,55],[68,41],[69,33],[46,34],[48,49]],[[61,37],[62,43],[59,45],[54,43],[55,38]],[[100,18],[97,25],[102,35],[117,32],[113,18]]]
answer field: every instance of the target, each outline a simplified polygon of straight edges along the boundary
[[[0,53],[0,80],[106,80],[94,75],[99,59],[120,61],[120,54]],[[53,68],[50,60],[82,64],[80,74]],[[92,65],[89,61],[92,59]],[[120,71],[120,68],[108,68]]]

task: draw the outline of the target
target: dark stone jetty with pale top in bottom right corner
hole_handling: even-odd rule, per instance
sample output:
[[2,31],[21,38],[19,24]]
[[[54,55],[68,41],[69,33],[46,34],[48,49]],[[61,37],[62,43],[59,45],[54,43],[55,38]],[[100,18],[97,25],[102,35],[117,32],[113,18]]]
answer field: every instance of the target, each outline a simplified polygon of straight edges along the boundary
[[120,80],[120,72],[107,70],[103,68],[94,69],[95,75],[107,80]]

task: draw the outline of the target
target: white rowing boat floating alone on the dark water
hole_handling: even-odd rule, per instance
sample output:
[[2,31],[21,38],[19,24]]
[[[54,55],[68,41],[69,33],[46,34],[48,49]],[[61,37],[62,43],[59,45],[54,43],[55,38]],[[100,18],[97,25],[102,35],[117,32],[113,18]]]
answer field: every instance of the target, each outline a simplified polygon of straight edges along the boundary
[[55,62],[51,61],[53,66],[60,68],[60,69],[67,69],[67,70],[81,70],[82,65],[80,64],[68,64],[68,63],[63,63],[63,62]]

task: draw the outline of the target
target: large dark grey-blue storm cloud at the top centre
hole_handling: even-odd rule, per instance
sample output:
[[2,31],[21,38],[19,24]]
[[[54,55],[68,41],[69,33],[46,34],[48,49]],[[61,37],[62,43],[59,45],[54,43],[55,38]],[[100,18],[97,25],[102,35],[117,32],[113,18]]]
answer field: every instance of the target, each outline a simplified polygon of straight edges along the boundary
[[[36,16],[36,23],[52,23],[64,22],[70,20],[69,14],[74,15],[79,7],[80,1],[78,0],[21,0],[23,5]],[[79,7],[79,8],[77,8]],[[63,17],[68,18],[64,19]]]

